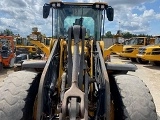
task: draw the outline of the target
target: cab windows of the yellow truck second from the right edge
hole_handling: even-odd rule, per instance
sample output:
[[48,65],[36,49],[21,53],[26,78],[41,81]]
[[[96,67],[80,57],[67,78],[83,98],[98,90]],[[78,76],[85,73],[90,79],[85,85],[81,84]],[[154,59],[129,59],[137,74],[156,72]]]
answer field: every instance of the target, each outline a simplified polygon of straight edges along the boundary
[[144,45],[144,38],[131,38],[129,45]]

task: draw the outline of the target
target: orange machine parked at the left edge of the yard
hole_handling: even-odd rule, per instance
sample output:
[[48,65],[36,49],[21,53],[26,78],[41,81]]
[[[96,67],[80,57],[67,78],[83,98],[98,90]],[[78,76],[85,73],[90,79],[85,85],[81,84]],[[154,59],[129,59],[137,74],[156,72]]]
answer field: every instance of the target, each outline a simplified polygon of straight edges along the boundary
[[13,67],[15,59],[13,36],[0,36],[0,70],[3,67]]

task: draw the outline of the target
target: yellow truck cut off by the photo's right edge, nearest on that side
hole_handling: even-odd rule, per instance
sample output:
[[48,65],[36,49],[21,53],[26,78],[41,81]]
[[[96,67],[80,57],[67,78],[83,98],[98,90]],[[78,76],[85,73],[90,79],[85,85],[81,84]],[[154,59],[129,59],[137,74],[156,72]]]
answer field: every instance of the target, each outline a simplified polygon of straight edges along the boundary
[[137,57],[150,61],[151,64],[160,66],[160,36],[155,36],[155,43],[140,47]]

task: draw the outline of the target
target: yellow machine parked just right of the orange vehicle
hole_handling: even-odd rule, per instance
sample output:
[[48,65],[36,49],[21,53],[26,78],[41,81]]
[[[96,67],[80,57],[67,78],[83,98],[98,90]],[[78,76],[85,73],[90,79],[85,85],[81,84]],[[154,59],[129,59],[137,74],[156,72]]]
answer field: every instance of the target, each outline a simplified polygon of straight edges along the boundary
[[27,38],[15,37],[16,55],[28,54],[30,58],[37,53],[37,48]]

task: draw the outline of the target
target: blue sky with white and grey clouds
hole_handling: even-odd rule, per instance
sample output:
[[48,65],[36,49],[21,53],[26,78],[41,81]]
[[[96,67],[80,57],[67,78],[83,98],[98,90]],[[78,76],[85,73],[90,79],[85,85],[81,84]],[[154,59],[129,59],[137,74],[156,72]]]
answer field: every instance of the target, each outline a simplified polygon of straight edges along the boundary
[[[95,0],[65,0],[95,2]],[[97,0],[100,1],[100,0]],[[102,0],[101,0],[102,1]],[[0,0],[0,31],[10,29],[27,36],[32,27],[51,35],[51,19],[42,18],[42,7],[49,0]],[[105,31],[160,35],[160,0],[103,0],[115,9],[113,22],[106,21]]]

